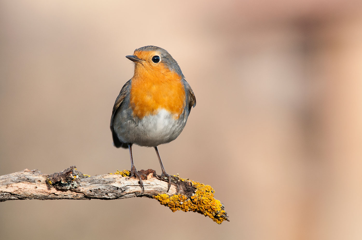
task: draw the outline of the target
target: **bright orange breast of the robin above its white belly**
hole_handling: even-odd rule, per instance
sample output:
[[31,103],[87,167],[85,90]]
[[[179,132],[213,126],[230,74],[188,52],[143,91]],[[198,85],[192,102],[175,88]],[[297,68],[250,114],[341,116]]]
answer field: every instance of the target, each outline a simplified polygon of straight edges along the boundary
[[143,118],[164,108],[178,119],[185,108],[185,100],[184,85],[176,72],[165,68],[162,63],[152,68],[136,64],[130,91],[134,116]]

